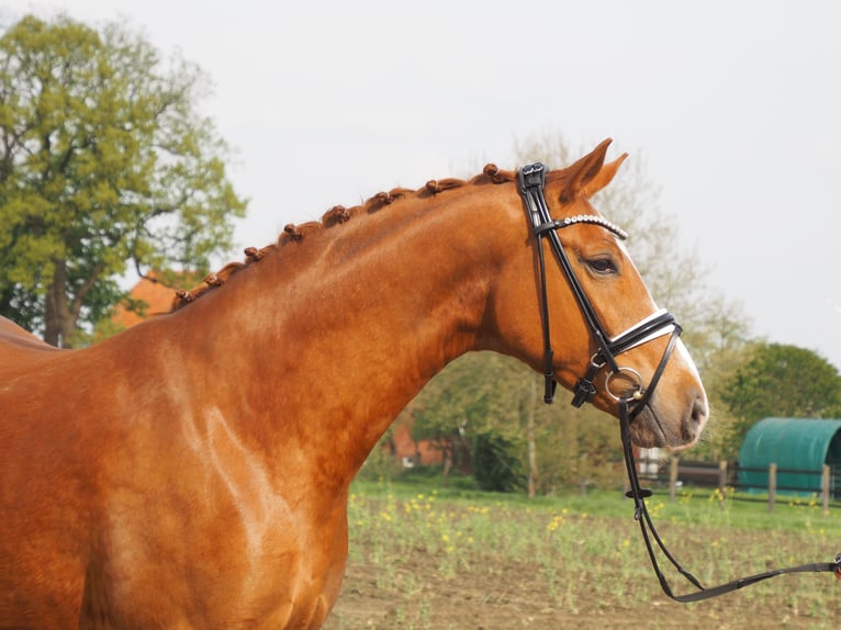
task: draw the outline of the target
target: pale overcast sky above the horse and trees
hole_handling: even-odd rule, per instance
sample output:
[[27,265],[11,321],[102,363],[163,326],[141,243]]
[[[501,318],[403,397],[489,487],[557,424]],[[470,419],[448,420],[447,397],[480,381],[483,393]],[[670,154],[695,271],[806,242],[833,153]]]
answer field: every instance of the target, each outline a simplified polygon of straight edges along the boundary
[[837,0],[4,0],[0,22],[57,10],[127,20],[210,75],[204,109],[250,199],[240,246],[396,185],[516,168],[536,134],[613,137],[754,333],[841,367]]

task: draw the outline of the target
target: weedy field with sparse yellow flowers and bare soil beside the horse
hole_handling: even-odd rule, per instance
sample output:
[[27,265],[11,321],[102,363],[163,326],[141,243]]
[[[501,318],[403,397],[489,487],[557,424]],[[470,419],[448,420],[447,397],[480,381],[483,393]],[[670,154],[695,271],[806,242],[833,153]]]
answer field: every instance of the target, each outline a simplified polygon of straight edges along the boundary
[[[649,499],[666,544],[709,586],[841,553],[841,509],[815,500]],[[541,497],[357,482],[341,596],[325,628],[836,628],[841,582],[783,575],[692,605],[668,599],[619,492]],[[676,593],[692,586],[669,573]]]

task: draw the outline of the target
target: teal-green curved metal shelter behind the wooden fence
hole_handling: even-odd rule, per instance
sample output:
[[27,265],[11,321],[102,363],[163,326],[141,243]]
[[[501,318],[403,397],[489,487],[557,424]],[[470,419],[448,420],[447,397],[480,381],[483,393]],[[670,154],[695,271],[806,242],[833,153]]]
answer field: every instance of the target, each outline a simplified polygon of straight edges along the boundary
[[[820,493],[823,464],[841,472],[841,420],[765,418],[753,425],[739,450],[739,485],[767,492],[769,464],[777,466],[781,493]],[[841,488],[833,488],[837,494]]]

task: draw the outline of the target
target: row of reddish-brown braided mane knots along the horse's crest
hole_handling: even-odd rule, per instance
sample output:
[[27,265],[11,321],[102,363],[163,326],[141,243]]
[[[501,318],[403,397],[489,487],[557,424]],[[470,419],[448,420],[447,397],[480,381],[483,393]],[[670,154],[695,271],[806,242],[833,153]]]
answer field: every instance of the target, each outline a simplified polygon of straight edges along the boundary
[[473,177],[469,181],[464,181],[456,178],[447,178],[440,180],[430,180],[426,182],[420,189],[412,190],[408,188],[395,188],[389,192],[379,192],[375,195],[368,199],[362,205],[355,205],[346,207],[344,205],[334,205],[322,216],[321,221],[311,221],[294,225],[290,223],[283,227],[283,232],[278,237],[277,243],[268,245],[261,249],[256,247],[246,247],[245,249],[245,262],[228,262],[221,270],[211,272],[204,277],[203,284],[187,291],[179,289],[176,291],[176,296],[172,300],[172,307],[170,313],[183,308],[191,302],[195,302],[199,297],[222,286],[234,273],[250,267],[255,262],[262,260],[268,254],[276,251],[277,249],[285,246],[289,243],[300,243],[311,234],[323,232],[326,228],[335,225],[341,225],[350,221],[357,214],[371,214],[382,210],[388,205],[392,205],[408,196],[428,198],[430,195],[440,194],[448,190],[462,188],[464,185],[481,185],[481,184],[497,184],[516,181],[516,171],[501,170],[496,165],[489,164],[482,169],[482,172]]

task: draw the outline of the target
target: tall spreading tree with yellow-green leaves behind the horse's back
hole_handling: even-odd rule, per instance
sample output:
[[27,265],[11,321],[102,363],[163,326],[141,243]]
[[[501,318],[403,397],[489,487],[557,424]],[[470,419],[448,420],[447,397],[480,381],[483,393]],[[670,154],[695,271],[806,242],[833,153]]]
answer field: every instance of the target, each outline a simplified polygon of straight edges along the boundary
[[246,202],[198,110],[201,70],[119,24],[26,16],[0,37],[0,314],[71,346],[133,266],[199,271]]

